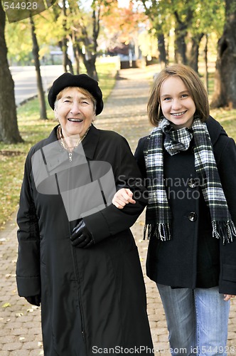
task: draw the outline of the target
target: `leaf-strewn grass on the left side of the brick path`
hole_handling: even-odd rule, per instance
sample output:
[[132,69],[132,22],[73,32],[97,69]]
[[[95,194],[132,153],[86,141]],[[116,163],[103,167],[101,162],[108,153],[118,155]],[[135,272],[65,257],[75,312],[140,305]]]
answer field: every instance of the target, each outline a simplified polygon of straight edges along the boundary
[[[104,101],[115,83],[114,63],[97,65],[100,88]],[[38,141],[48,137],[57,122],[53,110],[47,104],[48,120],[40,120],[38,100],[30,100],[17,110],[18,128],[24,142],[6,145],[0,142],[0,229],[4,229],[18,208],[19,192],[23,179],[23,167],[28,150]]]

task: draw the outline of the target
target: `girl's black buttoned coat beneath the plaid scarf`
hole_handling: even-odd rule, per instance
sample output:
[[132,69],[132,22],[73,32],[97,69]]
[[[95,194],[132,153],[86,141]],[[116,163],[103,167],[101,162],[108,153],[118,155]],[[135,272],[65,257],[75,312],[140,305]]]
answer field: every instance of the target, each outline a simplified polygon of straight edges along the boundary
[[[232,220],[236,226],[236,147],[220,124],[209,117],[206,121]],[[139,140],[135,157],[146,177],[144,145]],[[219,286],[220,293],[236,295],[236,239],[230,244],[212,237],[210,210],[200,187],[196,186],[192,147],[177,155],[164,152],[164,179],[172,212],[172,239],[149,241],[146,261],[151,280],[173,288],[210,288]],[[196,199],[198,198],[199,199]]]

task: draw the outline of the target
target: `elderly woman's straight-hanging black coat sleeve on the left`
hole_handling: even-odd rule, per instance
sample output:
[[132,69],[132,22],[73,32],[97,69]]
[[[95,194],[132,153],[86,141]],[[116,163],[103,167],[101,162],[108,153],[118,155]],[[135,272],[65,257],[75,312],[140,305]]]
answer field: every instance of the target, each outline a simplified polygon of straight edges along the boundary
[[16,283],[18,295],[28,297],[41,294],[40,236],[38,218],[31,194],[31,159],[26,158],[20,206],[17,214],[18,259]]

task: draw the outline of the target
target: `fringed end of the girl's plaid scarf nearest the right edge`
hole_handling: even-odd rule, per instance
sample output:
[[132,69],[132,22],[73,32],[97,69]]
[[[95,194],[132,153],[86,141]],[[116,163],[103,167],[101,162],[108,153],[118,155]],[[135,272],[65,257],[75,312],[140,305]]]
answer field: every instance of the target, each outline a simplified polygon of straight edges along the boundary
[[223,244],[230,244],[232,239],[236,237],[236,228],[232,220],[228,221],[212,221],[213,237],[222,239]]

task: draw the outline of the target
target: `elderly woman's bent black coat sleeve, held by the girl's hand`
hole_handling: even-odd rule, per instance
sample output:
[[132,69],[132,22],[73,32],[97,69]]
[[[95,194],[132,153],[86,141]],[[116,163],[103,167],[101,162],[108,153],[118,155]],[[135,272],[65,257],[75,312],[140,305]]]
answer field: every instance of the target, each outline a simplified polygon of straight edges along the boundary
[[117,145],[116,152],[113,154],[113,161],[115,162],[113,172],[116,186],[131,189],[136,204],[127,204],[124,209],[117,209],[116,206],[110,204],[95,214],[85,216],[83,219],[95,243],[129,229],[147,203],[147,192],[143,185],[141,173],[124,137]]

